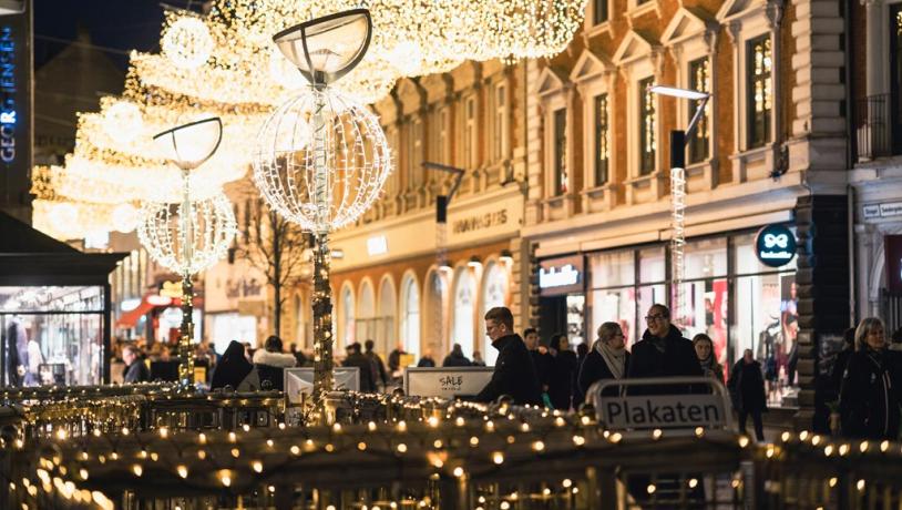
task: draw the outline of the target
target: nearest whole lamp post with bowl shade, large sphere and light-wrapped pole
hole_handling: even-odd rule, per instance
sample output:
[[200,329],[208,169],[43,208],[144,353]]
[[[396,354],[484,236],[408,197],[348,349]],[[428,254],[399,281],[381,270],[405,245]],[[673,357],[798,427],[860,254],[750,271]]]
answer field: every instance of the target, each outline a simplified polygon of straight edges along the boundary
[[331,90],[361,62],[371,37],[366,9],[317,18],[273,37],[309,88],[264,122],[254,155],[254,180],[267,204],[316,236],[314,398],[321,417],[322,397],[335,386],[329,232],[357,221],[391,171],[378,118]]

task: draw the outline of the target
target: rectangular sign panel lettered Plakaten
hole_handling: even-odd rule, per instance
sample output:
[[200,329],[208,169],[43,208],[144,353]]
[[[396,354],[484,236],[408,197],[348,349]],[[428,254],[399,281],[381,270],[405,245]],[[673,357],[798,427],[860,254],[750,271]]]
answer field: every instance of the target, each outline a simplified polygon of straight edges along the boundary
[[604,424],[614,429],[711,427],[726,424],[724,399],[715,395],[605,398]]

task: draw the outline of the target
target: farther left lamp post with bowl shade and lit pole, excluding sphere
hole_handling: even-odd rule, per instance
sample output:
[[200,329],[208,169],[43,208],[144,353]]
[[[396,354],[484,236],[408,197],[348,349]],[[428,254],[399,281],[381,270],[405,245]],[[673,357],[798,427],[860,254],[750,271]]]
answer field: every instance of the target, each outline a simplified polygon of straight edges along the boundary
[[[176,265],[182,275],[182,327],[178,338],[178,387],[188,389],[194,384],[194,353],[192,339],[194,338],[194,286],[191,276],[198,271],[195,264],[195,204],[191,196],[191,171],[201,166],[219,147],[223,139],[223,122],[219,118],[209,118],[173,128],[154,135],[154,143],[161,155],[182,171],[182,207],[178,214],[178,245],[181,254],[176,255]],[[228,210],[228,214],[230,214]],[[235,220],[230,217],[232,228],[228,228],[228,218],[222,233],[228,238],[228,232],[235,230]],[[180,256],[181,255],[181,256]]]

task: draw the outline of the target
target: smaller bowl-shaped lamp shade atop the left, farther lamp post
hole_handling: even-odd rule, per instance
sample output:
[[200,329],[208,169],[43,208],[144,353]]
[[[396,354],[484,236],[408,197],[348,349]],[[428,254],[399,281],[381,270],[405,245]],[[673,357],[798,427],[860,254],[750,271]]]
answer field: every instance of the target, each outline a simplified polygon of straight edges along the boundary
[[216,152],[223,139],[218,116],[203,119],[154,135],[160,155],[182,170],[194,170]]

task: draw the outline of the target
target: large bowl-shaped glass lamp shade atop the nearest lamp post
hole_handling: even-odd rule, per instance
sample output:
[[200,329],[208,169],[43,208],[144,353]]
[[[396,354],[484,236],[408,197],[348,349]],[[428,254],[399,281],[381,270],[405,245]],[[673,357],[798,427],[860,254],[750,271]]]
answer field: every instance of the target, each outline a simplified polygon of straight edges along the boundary
[[273,41],[307,81],[328,85],[360,63],[371,35],[369,11],[352,9],[283,30]]

